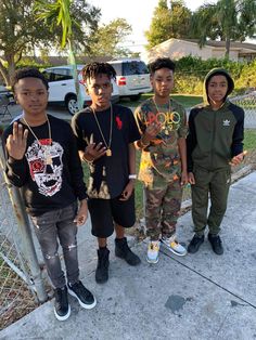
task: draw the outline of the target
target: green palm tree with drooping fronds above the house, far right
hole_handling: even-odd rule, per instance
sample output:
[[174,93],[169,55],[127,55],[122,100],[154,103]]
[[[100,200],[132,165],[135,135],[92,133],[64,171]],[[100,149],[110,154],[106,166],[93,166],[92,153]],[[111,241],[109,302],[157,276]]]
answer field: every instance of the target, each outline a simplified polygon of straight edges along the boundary
[[244,41],[256,34],[256,2],[252,0],[219,0],[204,4],[193,15],[192,32],[204,45],[207,39],[226,41],[226,57],[230,42]]

